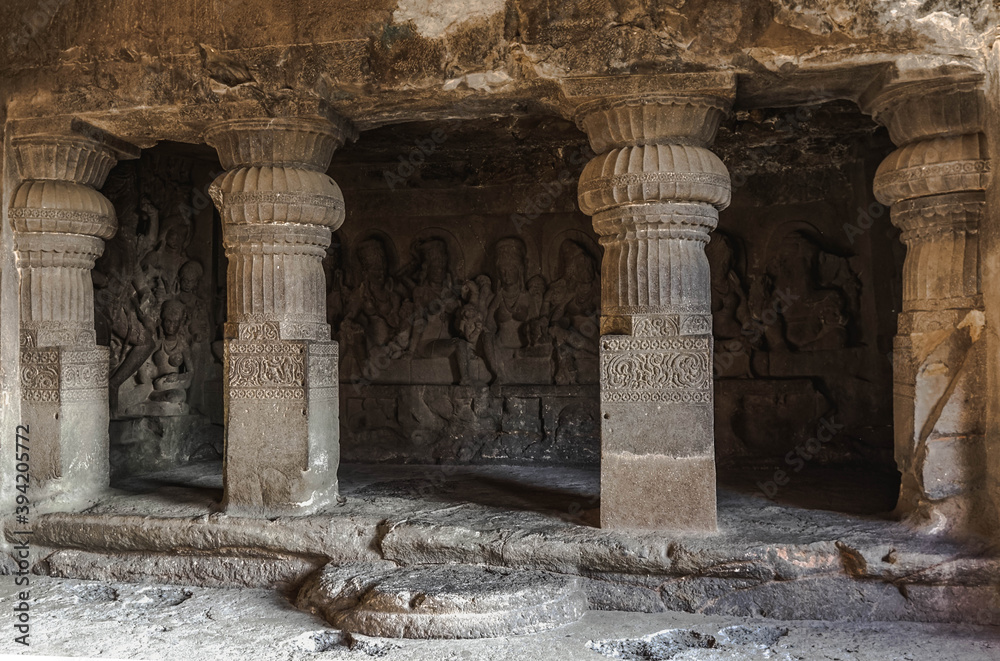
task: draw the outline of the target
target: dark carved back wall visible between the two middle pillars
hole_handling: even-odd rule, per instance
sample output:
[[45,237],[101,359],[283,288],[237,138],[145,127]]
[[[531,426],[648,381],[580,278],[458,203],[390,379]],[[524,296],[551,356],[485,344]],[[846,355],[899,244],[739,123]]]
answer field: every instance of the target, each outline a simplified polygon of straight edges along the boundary
[[345,460],[596,464],[589,156],[553,118],[397,126],[335,156]]

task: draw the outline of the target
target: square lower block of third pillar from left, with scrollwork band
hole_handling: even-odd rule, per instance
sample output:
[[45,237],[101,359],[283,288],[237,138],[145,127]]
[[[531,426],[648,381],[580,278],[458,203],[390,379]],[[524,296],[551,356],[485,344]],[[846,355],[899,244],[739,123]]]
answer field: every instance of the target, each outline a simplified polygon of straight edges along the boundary
[[716,530],[711,355],[707,335],[601,338],[601,527]]

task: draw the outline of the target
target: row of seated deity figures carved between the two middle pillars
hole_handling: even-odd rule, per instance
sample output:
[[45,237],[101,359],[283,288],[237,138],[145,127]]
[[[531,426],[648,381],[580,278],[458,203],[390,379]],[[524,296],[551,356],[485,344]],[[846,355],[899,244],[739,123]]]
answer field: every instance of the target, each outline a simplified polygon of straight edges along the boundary
[[[505,237],[488,254],[490,274],[463,280],[455,273],[460,258],[452,254],[454,237],[446,236],[414,240],[412,259],[395,272],[388,238],[362,241],[347,278],[356,283],[353,288],[342,284],[345,278],[332,263],[328,267],[328,296],[346,301],[342,355],[357,364],[344,374],[393,382],[407,373],[394,372],[395,364],[446,360],[421,363],[421,374],[431,383],[461,385],[596,380],[596,371],[591,375],[587,366],[582,375],[580,366],[597,359],[600,279],[594,251],[565,239],[550,285],[541,275],[529,277],[523,239]],[[381,367],[373,369],[376,361]]]

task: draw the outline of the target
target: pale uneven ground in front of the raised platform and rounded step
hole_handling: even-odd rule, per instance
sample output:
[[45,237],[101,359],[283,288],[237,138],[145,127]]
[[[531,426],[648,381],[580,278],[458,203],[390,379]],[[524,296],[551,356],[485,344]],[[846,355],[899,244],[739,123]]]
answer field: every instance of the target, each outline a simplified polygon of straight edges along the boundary
[[[8,579],[0,577],[3,604],[13,601],[13,582]],[[783,622],[673,612],[591,611],[575,624],[512,638],[345,639],[319,618],[295,610],[273,590],[36,577],[33,591],[33,655],[148,661],[1000,659],[1000,629],[964,624]],[[23,648],[4,635],[0,654],[9,653],[23,653]]]

